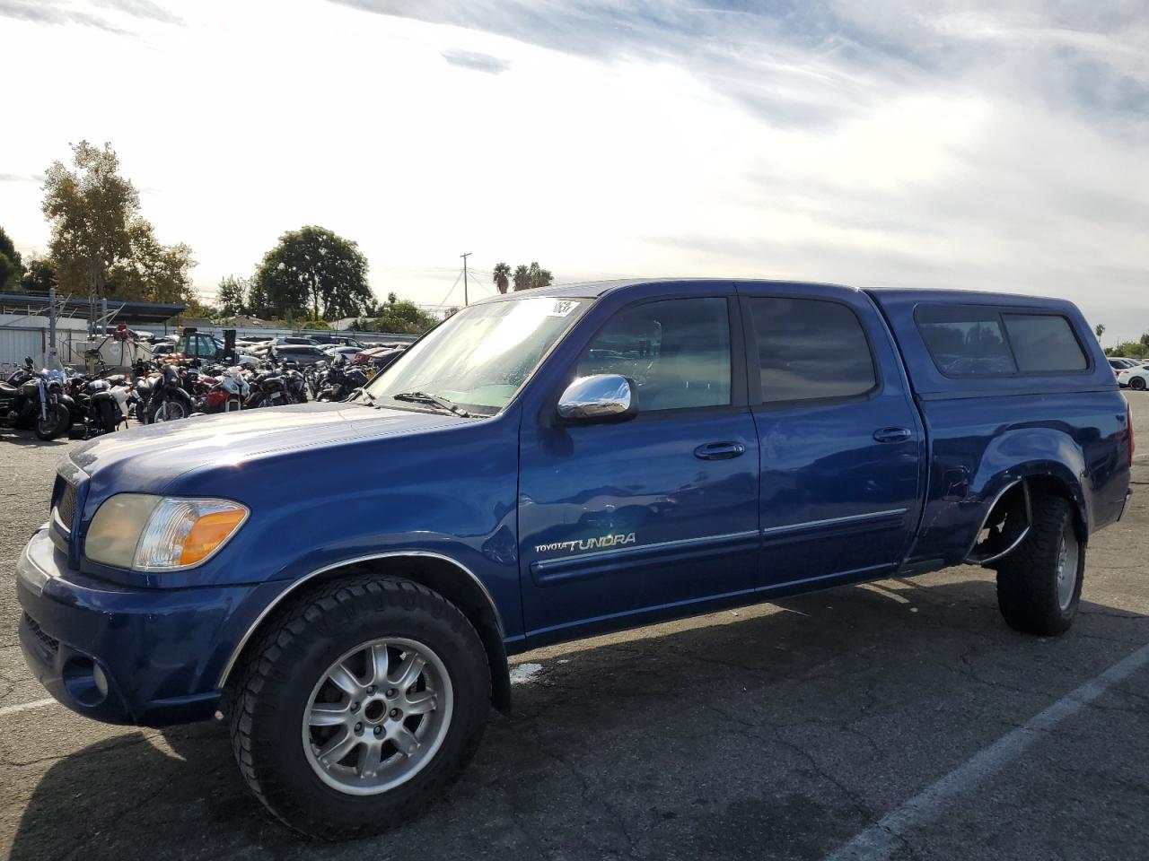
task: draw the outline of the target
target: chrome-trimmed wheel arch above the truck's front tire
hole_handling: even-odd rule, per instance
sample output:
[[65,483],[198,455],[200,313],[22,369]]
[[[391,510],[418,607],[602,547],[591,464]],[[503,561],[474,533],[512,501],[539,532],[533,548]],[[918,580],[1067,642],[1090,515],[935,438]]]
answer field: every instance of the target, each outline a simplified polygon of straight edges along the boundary
[[265,626],[273,623],[277,611],[304,597],[321,584],[364,573],[388,574],[412,580],[437,591],[458,607],[475,626],[483,642],[487,665],[491,668],[492,705],[503,713],[510,711],[510,670],[503,645],[504,629],[494,598],[483,581],[464,565],[441,553],[424,550],[399,550],[345,559],[317,568],[292,582],[263,608],[232,650],[217,684],[217,689],[224,691],[224,699],[230,699],[228,693],[230,684],[236,678],[237,668],[247,657],[248,647],[257,639],[255,635]]

